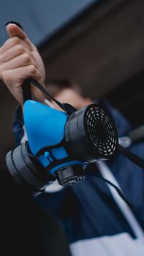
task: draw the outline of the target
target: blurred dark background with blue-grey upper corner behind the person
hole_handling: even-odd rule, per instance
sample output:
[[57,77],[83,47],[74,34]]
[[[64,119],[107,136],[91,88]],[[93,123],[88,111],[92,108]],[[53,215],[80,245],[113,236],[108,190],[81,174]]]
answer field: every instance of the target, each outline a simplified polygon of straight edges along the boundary
[[[1,0],[0,46],[4,43],[4,24],[9,20],[18,21],[39,48],[47,81],[61,78],[76,81],[86,96],[105,98],[121,110],[135,129],[144,123],[143,13],[143,0]],[[13,188],[14,184],[9,187],[5,177],[5,154],[15,147],[12,118],[16,106],[17,102],[0,82],[1,220],[4,230],[11,227],[12,233],[17,226],[15,236],[20,233],[22,238],[27,237],[25,246],[29,244],[30,234],[37,230],[33,238],[37,234],[36,241],[41,243],[40,250],[44,248],[43,255],[69,255],[67,241],[56,222],[31,203],[30,198],[24,200],[27,195],[21,197],[18,188]],[[19,222],[18,215],[21,216]],[[26,225],[19,228],[23,218]],[[12,244],[12,238],[10,240]]]

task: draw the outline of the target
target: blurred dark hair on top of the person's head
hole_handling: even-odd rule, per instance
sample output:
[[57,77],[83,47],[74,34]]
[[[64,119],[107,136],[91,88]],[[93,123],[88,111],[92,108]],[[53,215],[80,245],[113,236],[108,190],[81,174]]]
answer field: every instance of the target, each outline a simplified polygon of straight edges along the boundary
[[46,89],[48,90],[48,93],[53,97],[56,97],[64,89],[73,89],[77,92],[77,94],[82,95],[82,90],[80,86],[78,86],[77,83],[68,79],[49,80],[46,83]]

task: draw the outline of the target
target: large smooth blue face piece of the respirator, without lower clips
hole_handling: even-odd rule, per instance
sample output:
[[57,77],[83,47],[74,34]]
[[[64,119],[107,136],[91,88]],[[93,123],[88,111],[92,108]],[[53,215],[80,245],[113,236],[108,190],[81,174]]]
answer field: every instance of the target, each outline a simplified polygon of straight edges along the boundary
[[47,146],[55,146],[64,138],[67,114],[47,105],[28,100],[24,104],[24,123],[32,154]]

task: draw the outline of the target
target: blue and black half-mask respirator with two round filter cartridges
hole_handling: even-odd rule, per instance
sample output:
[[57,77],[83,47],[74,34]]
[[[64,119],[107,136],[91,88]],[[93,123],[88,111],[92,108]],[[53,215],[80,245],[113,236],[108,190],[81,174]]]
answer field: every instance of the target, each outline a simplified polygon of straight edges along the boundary
[[99,104],[76,110],[53,99],[63,110],[59,111],[28,99],[30,83],[40,86],[32,79],[23,84],[28,141],[7,154],[10,173],[20,185],[37,192],[56,178],[64,186],[83,181],[88,163],[110,159],[117,151],[118,134],[113,119]]

